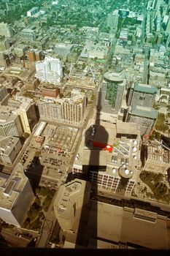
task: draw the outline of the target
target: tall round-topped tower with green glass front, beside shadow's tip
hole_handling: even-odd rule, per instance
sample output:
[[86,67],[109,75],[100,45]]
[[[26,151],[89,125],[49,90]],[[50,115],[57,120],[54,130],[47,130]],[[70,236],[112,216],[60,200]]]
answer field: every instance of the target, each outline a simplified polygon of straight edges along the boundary
[[[125,80],[120,74],[107,72],[101,84],[101,112],[117,114],[121,108],[123,93],[125,90]],[[99,92],[98,92],[99,95]]]

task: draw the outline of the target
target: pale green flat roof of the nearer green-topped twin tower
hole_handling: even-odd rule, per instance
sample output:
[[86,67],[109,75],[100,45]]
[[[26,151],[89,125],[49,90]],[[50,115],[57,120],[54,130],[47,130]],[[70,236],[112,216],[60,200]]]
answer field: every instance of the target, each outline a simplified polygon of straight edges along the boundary
[[131,113],[134,116],[143,116],[153,119],[156,119],[158,117],[158,110],[155,110],[154,108],[147,108],[136,105],[131,106],[131,108],[129,109],[129,113]]

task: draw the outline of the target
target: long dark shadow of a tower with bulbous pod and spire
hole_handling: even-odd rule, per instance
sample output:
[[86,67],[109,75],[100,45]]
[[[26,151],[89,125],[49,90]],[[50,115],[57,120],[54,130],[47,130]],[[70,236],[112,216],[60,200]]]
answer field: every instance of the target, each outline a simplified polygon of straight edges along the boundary
[[96,118],[85,132],[84,162],[81,177],[91,184],[90,200],[88,204],[82,206],[75,248],[80,248],[80,246],[88,249],[98,248],[98,186],[100,185],[98,172],[106,171],[102,154],[104,152],[102,151],[106,150],[108,143],[108,133],[100,122],[101,109],[101,89],[99,89],[96,102]]

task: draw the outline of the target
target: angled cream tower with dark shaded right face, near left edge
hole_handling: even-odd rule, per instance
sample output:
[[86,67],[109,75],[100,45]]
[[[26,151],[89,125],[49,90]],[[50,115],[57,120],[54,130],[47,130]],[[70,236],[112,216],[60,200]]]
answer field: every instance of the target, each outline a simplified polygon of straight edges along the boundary
[[34,100],[25,97],[14,97],[9,99],[8,106],[15,108],[12,112],[18,113],[18,116],[20,116],[23,132],[30,134],[37,122]]

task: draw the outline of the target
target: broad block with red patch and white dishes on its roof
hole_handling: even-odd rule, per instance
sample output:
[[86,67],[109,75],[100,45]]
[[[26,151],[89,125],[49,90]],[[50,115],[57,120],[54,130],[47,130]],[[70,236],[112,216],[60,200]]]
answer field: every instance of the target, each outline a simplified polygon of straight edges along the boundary
[[88,175],[92,188],[98,191],[121,190],[131,195],[139,165],[139,138],[136,124],[101,122],[98,127],[90,126],[77,151],[72,173],[77,177]]

